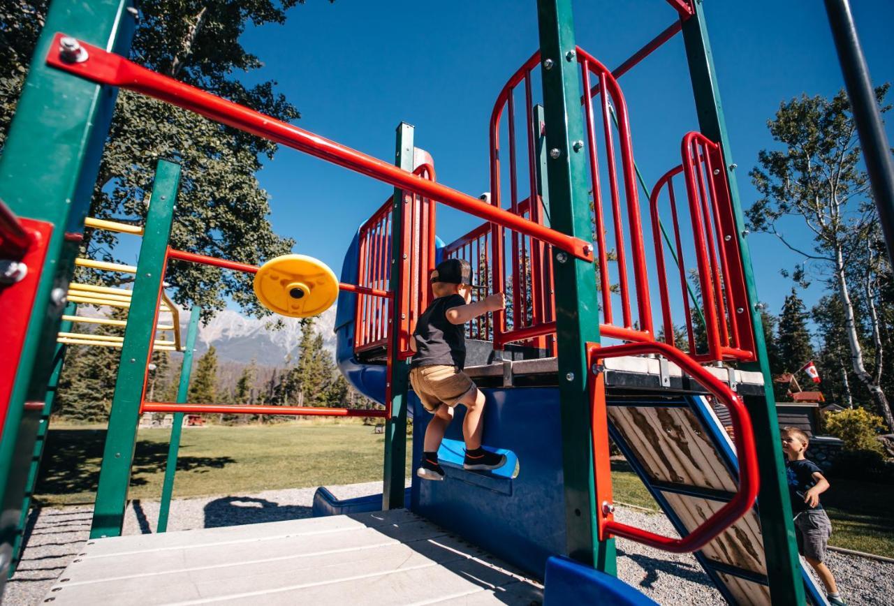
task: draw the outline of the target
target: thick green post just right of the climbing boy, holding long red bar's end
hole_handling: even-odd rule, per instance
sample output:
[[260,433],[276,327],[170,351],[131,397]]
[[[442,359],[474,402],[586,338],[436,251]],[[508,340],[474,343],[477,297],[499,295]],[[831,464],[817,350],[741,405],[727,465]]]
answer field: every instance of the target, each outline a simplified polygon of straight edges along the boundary
[[[543,62],[546,147],[545,188],[552,229],[591,240],[586,147],[580,108],[578,60],[570,0],[537,0]],[[577,147],[577,149],[575,149]],[[614,541],[596,532],[593,442],[587,393],[586,343],[599,342],[595,265],[553,250],[556,336],[561,398],[565,532],[571,558],[615,574]]]

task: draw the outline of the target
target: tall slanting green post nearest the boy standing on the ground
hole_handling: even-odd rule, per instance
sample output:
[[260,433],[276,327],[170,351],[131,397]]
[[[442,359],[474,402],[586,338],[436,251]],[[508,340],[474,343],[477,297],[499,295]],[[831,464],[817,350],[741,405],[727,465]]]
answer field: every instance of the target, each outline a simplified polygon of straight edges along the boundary
[[717,75],[714,72],[711,45],[704,22],[701,1],[693,4],[695,14],[683,21],[683,42],[686,46],[689,75],[692,79],[696,98],[696,112],[702,133],[708,139],[718,141],[726,161],[725,170],[730,183],[730,201],[736,219],[738,245],[742,251],[742,265],[745,268],[748,307],[755,332],[755,353],[757,362],[742,365],[746,370],[759,371],[763,375],[763,397],[746,397],[745,403],[751,415],[757,446],[757,463],[761,470],[760,503],[761,534],[767,561],[767,577],[773,603],[803,604],[804,585],[800,575],[800,564],[795,543],[795,529],[792,523],[789,488],[785,476],[785,465],[780,447],[779,421],[776,417],[776,401],[773,397],[772,375],[767,361],[766,344],[763,341],[763,326],[759,313],[755,275],[751,265],[751,254],[745,238],[745,217],[738,196],[736,173],[733,170],[730,139],[723,117]]

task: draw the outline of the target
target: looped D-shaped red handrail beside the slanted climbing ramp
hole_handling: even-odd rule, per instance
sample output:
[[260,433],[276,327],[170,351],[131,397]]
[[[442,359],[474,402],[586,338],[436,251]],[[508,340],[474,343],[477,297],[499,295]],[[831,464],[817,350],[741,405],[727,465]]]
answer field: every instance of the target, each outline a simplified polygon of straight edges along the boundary
[[[699,366],[695,360],[689,358],[679,349],[673,348],[660,341],[645,343],[626,343],[606,348],[600,348],[595,343],[587,344],[587,361],[589,367],[589,380],[595,385],[600,371],[599,361],[604,358],[619,358],[620,356],[636,356],[639,354],[656,353],[668,358],[677,364],[687,375],[696,379],[708,391],[710,391],[721,404],[730,409],[730,418],[734,430],[734,442],[738,457],[738,492],[726,505],[718,509],[704,524],[697,526],[689,534],[673,539],[669,536],[650,533],[642,528],[628,526],[615,522],[611,517],[611,508],[600,508],[597,512],[599,536],[601,539],[610,535],[623,536],[637,543],[644,543],[656,549],[683,553],[696,551],[704,547],[706,543],[713,541],[719,534],[729,528],[738,518],[744,516],[757,498],[760,487],[760,476],[757,468],[757,452],[755,449],[755,434],[751,427],[751,417],[745,408],[745,404],[735,391],[730,390],[726,383]],[[604,399],[600,403],[595,398],[596,391],[591,389],[593,397],[593,424],[606,423]],[[602,410],[599,410],[602,407]],[[603,479],[603,478],[599,478]],[[596,484],[598,486],[598,482]]]

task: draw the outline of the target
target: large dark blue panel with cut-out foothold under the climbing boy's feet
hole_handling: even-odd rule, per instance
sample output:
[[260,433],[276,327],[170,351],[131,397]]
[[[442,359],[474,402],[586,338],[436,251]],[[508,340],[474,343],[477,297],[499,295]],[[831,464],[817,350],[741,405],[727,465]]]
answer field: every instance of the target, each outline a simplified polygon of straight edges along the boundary
[[[443,482],[414,473],[409,507],[501,560],[543,578],[546,560],[565,551],[559,391],[555,388],[485,389],[485,448],[505,452],[507,465],[494,472],[462,468],[462,419],[457,407],[438,458]],[[416,394],[413,464],[432,417]],[[583,453],[582,456],[586,456]],[[518,464],[518,475],[513,477]]]

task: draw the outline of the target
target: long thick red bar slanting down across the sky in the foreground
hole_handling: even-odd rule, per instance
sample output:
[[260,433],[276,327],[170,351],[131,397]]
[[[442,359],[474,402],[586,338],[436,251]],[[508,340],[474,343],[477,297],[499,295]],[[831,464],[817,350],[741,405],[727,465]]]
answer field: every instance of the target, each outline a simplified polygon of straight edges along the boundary
[[469,215],[475,215],[485,221],[543,240],[579,259],[593,261],[593,247],[584,240],[528,221],[456,189],[401,170],[401,168],[373,156],[367,156],[356,149],[342,146],[308,130],[299,129],[287,122],[276,120],[248,107],[216,97],[199,88],[190,87],[173,78],[152,72],[136,63],[131,63],[120,55],[108,53],[98,46],[89,45],[79,40],[80,46],[87,51],[87,60],[81,63],[66,63],[60,56],[60,39],[63,37],[62,33],[56,34],[46,56],[47,64],[63,72],[70,72],[99,84],[125,88],[148,97],[156,97],[172,105],[204,115],[215,122],[221,122],[235,129],[257,135],[257,137],[298,149],[310,156],[344,166],[357,173],[389,183],[396,188],[411,191],[423,198],[431,198]]

